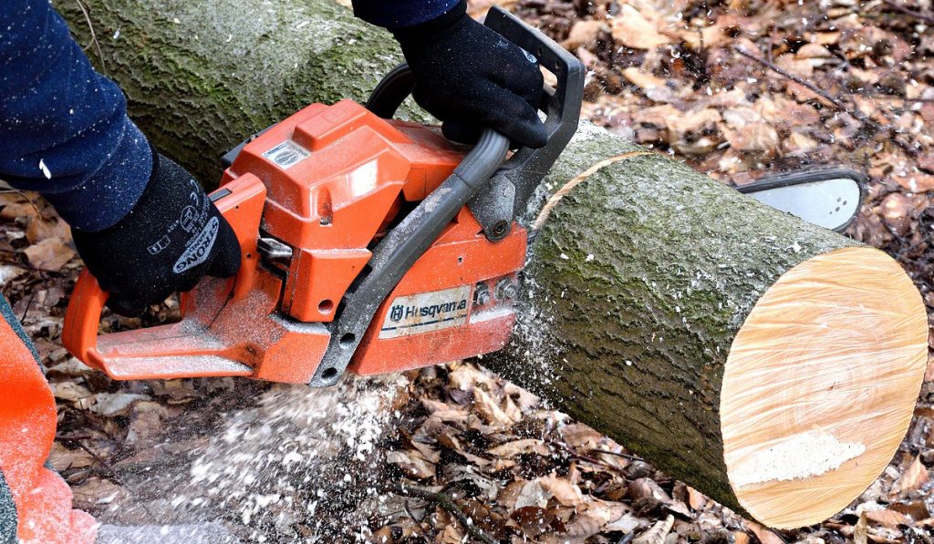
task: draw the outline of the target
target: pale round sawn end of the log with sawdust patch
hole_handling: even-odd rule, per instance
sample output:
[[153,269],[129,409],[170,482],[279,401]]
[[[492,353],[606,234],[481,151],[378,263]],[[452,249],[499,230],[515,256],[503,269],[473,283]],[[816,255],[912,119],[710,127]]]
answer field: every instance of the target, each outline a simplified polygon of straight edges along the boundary
[[892,258],[847,247],[786,272],[724,372],[724,457],[743,508],[778,528],[845,508],[898,449],[926,366],[924,304]]

